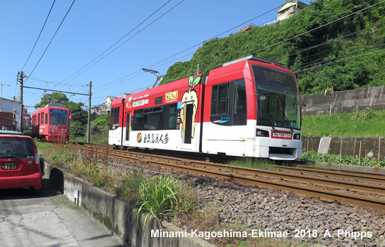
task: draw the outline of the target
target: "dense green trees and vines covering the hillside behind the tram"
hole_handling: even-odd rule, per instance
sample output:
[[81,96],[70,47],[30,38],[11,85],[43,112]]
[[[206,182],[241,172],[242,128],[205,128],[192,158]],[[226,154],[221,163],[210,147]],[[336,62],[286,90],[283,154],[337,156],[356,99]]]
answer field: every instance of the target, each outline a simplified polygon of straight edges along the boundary
[[190,61],[170,66],[162,84],[203,76],[248,55],[287,64],[302,95],[385,85],[385,1],[317,0],[283,24],[266,25],[203,44]]

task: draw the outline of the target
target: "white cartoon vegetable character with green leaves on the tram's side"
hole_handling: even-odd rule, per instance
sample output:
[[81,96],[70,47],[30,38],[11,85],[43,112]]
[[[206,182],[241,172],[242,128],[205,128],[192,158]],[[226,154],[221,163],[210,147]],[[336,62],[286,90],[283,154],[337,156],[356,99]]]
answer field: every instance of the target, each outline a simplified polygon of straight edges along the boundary
[[195,116],[198,110],[198,94],[194,89],[201,81],[201,76],[190,76],[188,80],[189,90],[184,92],[180,107],[180,120],[182,122],[182,140],[189,143],[195,135]]

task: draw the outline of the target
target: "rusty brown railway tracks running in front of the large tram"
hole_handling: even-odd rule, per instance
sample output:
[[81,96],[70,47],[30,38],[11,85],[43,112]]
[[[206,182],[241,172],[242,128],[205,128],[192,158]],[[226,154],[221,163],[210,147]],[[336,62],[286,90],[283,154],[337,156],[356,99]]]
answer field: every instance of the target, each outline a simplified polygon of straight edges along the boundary
[[274,171],[266,171],[191,159],[113,150],[106,145],[71,144],[68,147],[98,152],[117,159],[141,162],[217,179],[385,211],[385,176],[381,174],[319,169],[316,167],[283,166],[273,166]]

